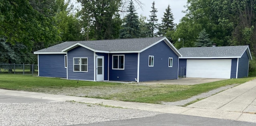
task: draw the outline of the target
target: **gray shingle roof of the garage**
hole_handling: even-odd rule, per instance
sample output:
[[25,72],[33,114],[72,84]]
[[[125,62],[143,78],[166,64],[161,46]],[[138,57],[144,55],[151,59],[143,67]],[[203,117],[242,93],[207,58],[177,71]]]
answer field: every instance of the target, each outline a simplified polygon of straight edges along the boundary
[[[178,51],[182,57],[241,57],[248,45],[220,47],[184,47]],[[250,53],[250,51],[249,51]],[[250,57],[250,56],[249,56]]]

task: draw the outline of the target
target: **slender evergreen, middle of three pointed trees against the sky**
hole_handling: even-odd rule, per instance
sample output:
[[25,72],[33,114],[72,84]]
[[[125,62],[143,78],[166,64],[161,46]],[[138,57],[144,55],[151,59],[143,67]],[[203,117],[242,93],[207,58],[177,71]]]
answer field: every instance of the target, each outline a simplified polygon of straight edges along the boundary
[[158,25],[157,24],[157,15],[156,13],[158,12],[158,10],[155,8],[155,1],[153,1],[152,3],[152,10],[150,11],[151,12],[151,15],[149,16],[149,20],[148,20],[148,37],[154,37],[156,35],[155,33],[155,30],[158,28]]

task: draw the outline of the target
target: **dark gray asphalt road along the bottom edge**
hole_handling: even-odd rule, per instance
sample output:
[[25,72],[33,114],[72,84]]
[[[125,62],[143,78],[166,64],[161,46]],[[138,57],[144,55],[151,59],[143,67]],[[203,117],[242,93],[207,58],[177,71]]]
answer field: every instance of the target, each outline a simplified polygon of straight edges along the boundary
[[256,126],[256,123],[225,119],[187,116],[181,114],[159,114],[146,118],[79,124],[71,126]]

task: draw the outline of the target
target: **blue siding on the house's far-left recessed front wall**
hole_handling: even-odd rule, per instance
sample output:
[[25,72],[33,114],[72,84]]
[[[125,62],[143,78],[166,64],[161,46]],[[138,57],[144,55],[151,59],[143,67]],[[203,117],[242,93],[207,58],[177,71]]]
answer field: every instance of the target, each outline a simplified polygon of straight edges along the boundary
[[39,76],[66,78],[64,55],[66,54],[39,54]]

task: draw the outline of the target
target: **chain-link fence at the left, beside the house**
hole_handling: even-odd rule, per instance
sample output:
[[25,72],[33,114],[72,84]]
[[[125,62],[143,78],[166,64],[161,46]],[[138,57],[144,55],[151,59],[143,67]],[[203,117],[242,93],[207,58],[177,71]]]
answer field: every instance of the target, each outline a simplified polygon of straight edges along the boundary
[[38,75],[38,65],[34,64],[0,64],[0,73]]

